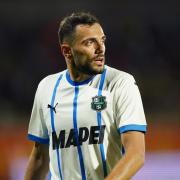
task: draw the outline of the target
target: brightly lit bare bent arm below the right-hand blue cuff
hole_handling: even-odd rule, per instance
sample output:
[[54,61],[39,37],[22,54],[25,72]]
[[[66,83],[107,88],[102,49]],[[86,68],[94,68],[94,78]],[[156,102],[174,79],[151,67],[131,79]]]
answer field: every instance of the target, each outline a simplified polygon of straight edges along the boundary
[[129,180],[144,164],[144,133],[129,131],[121,135],[125,154],[106,180]]

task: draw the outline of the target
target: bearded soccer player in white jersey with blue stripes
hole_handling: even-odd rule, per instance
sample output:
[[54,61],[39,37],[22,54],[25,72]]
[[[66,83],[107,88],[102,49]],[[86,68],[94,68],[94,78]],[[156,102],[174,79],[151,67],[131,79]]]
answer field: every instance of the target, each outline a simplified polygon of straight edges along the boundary
[[146,120],[132,75],[105,65],[98,19],[77,12],[59,27],[67,69],[44,78],[28,137],[25,180],[127,180],[144,164]]

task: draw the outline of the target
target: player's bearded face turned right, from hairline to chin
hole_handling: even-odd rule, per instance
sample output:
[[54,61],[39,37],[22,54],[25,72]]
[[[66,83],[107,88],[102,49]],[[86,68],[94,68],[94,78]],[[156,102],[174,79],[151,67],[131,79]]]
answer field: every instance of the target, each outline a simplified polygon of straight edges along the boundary
[[73,68],[88,75],[100,74],[105,63],[105,35],[98,23],[78,25],[71,45]]

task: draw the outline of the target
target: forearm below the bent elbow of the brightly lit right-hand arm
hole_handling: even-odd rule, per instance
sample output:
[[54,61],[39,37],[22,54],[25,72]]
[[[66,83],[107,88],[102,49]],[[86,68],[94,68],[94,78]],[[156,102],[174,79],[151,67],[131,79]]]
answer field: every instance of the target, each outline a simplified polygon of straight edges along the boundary
[[106,180],[129,180],[144,164],[142,154],[127,153],[111,171]]

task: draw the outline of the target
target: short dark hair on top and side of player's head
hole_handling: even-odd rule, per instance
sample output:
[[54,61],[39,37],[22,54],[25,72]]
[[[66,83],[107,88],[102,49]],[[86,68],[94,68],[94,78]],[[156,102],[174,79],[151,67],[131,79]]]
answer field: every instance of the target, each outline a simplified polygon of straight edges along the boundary
[[74,30],[79,24],[93,25],[99,23],[99,20],[89,12],[75,12],[66,16],[60,23],[58,37],[59,43],[62,44],[64,39],[70,39],[73,36]]

